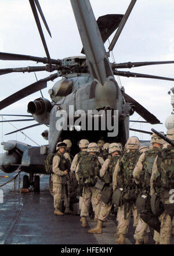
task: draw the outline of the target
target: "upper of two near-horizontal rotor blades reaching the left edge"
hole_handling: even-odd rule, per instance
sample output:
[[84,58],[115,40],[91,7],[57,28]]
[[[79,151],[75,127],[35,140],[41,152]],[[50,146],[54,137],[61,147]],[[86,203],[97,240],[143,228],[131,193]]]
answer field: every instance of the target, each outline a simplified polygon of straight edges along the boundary
[[[35,57],[23,54],[9,54],[8,52],[0,52],[0,59],[3,61],[35,61],[42,62],[44,64],[48,63],[47,58]],[[50,59],[52,64],[61,65],[62,61],[60,59]]]

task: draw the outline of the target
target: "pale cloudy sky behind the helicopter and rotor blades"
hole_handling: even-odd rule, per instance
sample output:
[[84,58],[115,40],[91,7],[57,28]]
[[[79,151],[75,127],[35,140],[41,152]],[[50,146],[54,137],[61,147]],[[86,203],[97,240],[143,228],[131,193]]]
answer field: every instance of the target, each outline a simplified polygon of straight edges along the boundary
[[[90,0],[96,19],[106,14],[124,14],[130,0]],[[52,38],[49,37],[45,27],[43,31],[51,58],[62,59],[68,56],[81,55],[82,43],[78,34],[77,25],[69,0],[39,0],[44,12]],[[128,22],[122,31],[113,50],[114,61],[141,62],[141,61],[174,61],[174,2],[173,0],[137,0]],[[110,38],[110,41],[112,36]],[[108,51],[108,42],[105,44]],[[1,0],[0,2],[0,51],[16,54],[45,57],[44,47],[32,15],[29,1]],[[110,58],[112,62],[113,59]],[[0,68],[35,66],[31,61],[0,61]],[[39,65],[39,64],[38,64]],[[42,65],[42,64],[40,64]],[[174,64],[136,67],[126,71],[154,74],[174,78]],[[37,78],[49,76],[47,72],[38,72]],[[115,77],[117,79],[117,77]],[[153,113],[162,123],[171,115],[171,97],[168,91],[174,87],[174,82],[165,80],[126,78],[120,77],[125,92],[136,99],[140,104]],[[55,80],[57,81],[57,80]],[[11,73],[0,77],[0,100],[15,93],[21,88],[35,82],[34,73]],[[48,90],[55,82],[49,82],[47,88],[42,90],[45,98],[49,98]],[[32,94],[20,101],[2,109],[2,114],[27,114],[27,104],[41,94]],[[1,116],[0,116],[1,119]],[[5,117],[10,119],[10,117]],[[13,118],[11,118],[13,119]],[[136,113],[131,120],[143,120]],[[17,129],[32,125],[35,122],[13,122]],[[130,127],[150,131],[154,129],[166,131],[165,125],[133,124]],[[46,141],[41,132],[46,126],[38,126],[23,132],[39,145]],[[0,124],[0,141],[19,140],[35,145],[23,134],[16,133],[5,136],[5,133],[15,130],[9,123]],[[148,140],[148,134],[130,132],[130,136],[138,136]],[[2,152],[2,146],[0,152]]]

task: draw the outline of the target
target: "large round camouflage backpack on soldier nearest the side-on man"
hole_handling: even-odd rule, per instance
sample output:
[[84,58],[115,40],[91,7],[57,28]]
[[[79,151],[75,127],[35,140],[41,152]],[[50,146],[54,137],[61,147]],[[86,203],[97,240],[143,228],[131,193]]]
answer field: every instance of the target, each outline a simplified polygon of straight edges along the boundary
[[96,155],[85,154],[78,167],[79,183],[84,186],[95,186],[99,178],[101,165]]

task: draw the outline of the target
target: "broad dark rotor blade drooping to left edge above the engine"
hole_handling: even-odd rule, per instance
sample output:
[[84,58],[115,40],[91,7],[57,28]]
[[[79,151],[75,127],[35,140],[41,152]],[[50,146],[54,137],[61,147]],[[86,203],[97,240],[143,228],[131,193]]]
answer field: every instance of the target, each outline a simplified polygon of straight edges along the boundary
[[46,88],[46,83],[50,80],[56,79],[57,76],[58,76],[57,73],[51,74],[50,76],[45,77],[44,79],[38,80],[37,82],[30,84],[30,86],[24,87],[20,91],[17,91],[16,93],[10,95],[9,97],[3,99],[2,101],[0,101],[0,110],[5,108],[6,106],[13,104],[16,101],[19,101],[20,99],[27,97],[32,93],[36,93],[37,91]]

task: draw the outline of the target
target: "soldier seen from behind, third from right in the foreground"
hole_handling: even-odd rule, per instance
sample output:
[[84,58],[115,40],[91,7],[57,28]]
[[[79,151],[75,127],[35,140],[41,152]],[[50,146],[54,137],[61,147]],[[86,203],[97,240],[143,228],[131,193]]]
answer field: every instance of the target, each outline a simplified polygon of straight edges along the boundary
[[[125,244],[125,234],[128,233],[131,212],[134,218],[133,226],[137,226],[139,215],[135,206],[137,186],[133,180],[133,169],[135,168],[137,159],[140,156],[139,139],[130,137],[126,143],[126,148],[129,150],[119,159],[119,164],[115,172],[117,173],[117,187],[122,188],[122,205],[119,216],[118,232],[119,239],[116,243]],[[131,194],[132,193],[132,194]]]

